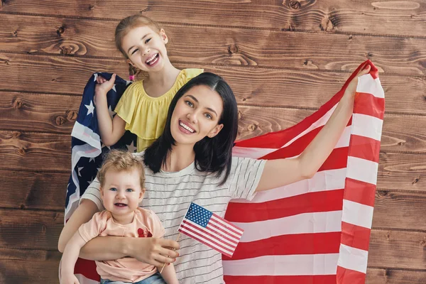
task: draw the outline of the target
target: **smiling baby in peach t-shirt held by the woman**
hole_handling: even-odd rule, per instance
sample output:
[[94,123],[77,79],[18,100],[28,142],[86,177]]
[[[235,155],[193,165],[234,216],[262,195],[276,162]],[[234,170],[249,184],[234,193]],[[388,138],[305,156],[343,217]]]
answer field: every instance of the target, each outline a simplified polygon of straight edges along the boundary
[[[126,151],[111,150],[97,174],[105,210],[93,218],[68,241],[61,262],[61,283],[79,283],[74,266],[80,249],[97,236],[131,236],[161,238],[165,229],[151,210],[138,207],[145,193],[145,175],[140,160]],[[102,284],[176,284],[173,263],[155,267],[135,258],[119,258],[114,261],[96,261]]]

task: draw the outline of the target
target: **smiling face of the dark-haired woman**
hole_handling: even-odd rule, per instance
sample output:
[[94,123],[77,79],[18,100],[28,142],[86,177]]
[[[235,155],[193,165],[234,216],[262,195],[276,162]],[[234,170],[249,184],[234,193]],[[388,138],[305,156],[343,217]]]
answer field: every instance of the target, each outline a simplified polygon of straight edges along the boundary
[[223,111],[222,97],[204,85],[189,89],[176,104],[170,121],[170,132],[178,144],[195,145],[205,136],[221,131],[218,124]]

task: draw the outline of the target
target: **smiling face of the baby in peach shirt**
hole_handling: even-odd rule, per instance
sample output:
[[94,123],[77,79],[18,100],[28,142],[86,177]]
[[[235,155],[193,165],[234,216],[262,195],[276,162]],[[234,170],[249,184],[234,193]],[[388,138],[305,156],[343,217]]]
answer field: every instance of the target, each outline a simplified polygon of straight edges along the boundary
[[138,208],[145,189],[141,188],[139,173],[136,169],[117,172],[107,170],[102,187],[104,207],[112,214],[124,215]]

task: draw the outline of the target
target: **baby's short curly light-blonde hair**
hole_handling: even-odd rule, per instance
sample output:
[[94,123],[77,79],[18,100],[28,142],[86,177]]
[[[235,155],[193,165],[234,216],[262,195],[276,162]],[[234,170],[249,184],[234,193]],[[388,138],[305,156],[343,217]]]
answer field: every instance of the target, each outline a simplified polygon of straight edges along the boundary
[[104,156],[104,162],[102,163],[102,168],[97,173],[97,178],[101,187],[103,187],[105,185],[105,175],[108,170],[121,172],[133,169],[138,171],[141,189],[143,190],[143,188],[145,188],[145,170],[143,168],[143,161],[138,160],[135,155],[132,155],[128,151],[114,149]]

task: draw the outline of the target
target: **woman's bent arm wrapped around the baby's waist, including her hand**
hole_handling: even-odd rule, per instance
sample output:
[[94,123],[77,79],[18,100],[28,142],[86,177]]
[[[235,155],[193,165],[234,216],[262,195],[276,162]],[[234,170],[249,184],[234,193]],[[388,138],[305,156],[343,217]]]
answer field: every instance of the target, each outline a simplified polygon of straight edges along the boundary
[[[82,200],[60,233],[59,251],[64,251],[67,242],[78,228],[89,222],[96,212],[98,208],[92,200]],[[163,263],[175,261],[178,256],[172,249],[179,249],[179,244],[167,239],[104,236],[94,238],[85,244],[80,250],[80,257],[92,261],[109,261],[131,256],[153,266],[162,266]]]

